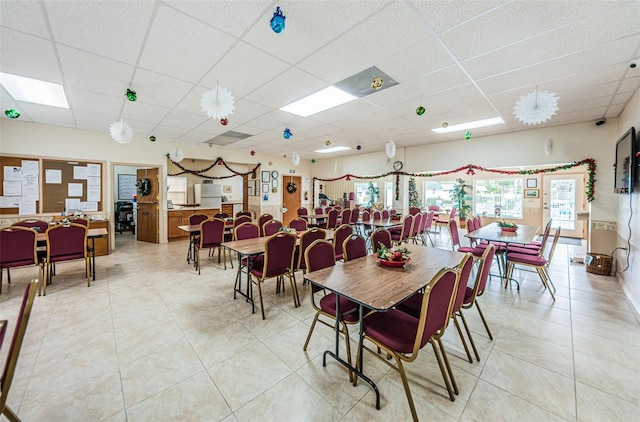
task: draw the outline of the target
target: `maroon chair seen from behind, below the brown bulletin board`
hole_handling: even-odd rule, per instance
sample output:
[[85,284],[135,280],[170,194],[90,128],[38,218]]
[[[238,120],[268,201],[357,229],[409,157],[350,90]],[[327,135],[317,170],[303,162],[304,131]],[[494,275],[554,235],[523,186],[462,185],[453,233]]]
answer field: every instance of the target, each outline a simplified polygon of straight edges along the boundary
[[80,224],[64,224],[47,229],[47,257],[44,263],[42,294],[47,295],[47,284],[51,283],[52,266],[59,262],[84,259],[87,286],[91,286],[91,260],[87,251],[87,228]]

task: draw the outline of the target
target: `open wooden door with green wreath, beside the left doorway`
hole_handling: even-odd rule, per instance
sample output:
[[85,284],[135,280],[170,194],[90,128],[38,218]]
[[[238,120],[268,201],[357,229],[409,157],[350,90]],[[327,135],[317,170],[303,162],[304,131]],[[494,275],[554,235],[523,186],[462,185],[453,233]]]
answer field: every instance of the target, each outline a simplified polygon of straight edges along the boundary
[[138,191],[138,220],[136,228],[137,239],[142,242],[159,242],[158,213],[159,213],[159,192],[160,178],[158,168],[138,169],[137,179],[148,179],[151,189],[148,195],[142,195]]

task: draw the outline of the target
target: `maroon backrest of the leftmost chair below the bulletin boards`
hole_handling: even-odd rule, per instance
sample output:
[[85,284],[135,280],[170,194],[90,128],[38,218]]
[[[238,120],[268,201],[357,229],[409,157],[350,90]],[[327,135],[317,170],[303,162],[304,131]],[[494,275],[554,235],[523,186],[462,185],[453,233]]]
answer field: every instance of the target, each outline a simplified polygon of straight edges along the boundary
[[38,233],[27,227],[11,226],[0,230],[0,268],[37,264],[37,239]]

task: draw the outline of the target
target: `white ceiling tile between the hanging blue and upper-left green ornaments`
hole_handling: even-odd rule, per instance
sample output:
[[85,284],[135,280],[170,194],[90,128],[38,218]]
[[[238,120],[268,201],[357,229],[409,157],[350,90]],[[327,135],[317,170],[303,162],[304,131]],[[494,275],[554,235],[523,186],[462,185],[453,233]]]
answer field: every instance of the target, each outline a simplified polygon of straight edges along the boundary
[[[233,37],[161,4],[140,57],[140,66],[197,83],[234,42]],[[171,55],[167,55],[167,51],[171,51]]]

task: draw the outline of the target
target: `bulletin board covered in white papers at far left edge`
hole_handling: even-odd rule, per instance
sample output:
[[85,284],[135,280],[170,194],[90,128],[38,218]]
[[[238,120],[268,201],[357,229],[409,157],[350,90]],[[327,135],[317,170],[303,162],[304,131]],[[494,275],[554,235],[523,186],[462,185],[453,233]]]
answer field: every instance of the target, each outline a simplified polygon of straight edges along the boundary
[[41,171],[39,158],[0,156],[0,215],[39,212]]

